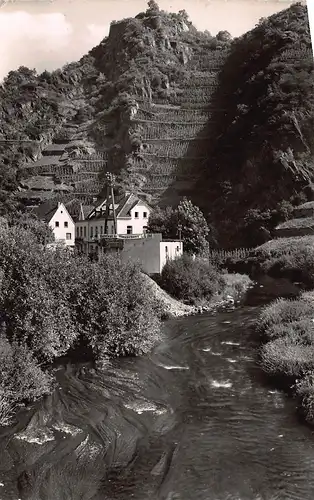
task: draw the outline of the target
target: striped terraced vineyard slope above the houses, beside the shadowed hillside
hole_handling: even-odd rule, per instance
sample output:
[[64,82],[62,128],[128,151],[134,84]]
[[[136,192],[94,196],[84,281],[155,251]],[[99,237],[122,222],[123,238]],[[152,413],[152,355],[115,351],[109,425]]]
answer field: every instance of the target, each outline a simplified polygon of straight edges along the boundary
[[131,170],[144,176],[142,191],[161,205],[174,204],[193,189],[208,162],[211,97],[226,55],[219,52],[211,59],[208,52],[197,54],[176,95],[137,100],[132,128],[141,137],[141,148],[129,158]]

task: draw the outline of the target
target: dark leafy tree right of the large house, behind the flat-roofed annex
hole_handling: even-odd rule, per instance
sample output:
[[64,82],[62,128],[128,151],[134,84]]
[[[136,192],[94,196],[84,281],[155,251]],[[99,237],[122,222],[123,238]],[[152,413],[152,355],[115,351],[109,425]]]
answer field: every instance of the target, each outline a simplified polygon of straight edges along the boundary
[[157,208],[150,216],[148,230],[166,238],[181,235],[186,253],[200,255],[208,249],[209,228],[201,210],[184,198],[176,209]]

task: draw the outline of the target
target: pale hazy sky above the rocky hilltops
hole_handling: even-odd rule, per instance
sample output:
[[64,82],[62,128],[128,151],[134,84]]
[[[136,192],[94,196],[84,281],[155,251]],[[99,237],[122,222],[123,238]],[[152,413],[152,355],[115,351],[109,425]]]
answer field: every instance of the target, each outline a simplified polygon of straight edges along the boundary
[[[200,30],[238,36],[291,0],[159,0],[185,9]],[[309,0],[314,20],[314,0]],[[146,10],[146,0],[0,0],[0,79],[20,65],[55,69],[79,59],[108,34],[112,20]],[[314,22],[314,21],[313,21]]]

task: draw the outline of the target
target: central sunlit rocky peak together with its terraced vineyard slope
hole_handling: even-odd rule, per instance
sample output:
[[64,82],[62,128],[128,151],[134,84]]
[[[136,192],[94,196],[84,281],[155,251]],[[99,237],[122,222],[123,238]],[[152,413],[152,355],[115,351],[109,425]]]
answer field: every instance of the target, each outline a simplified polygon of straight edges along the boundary
[[90,53],[103,75],[92,100],[93,137],[121,185],[162,204],[191,192],[207,157],[211,96],[230,45],[228,33],[200,33],[185,11],[168,14],[152,3],[112,24]]

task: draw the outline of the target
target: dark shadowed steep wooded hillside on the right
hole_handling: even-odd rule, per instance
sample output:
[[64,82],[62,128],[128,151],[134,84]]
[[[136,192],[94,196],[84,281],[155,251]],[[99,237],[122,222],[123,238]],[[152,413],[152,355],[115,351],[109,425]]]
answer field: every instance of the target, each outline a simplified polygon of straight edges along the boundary
[[224,246],[261,243],[259,229],[278,222],[283,200],[313,197],[313,77],[300,4],[233,42],[213,96],[209,162],[195,194]]

